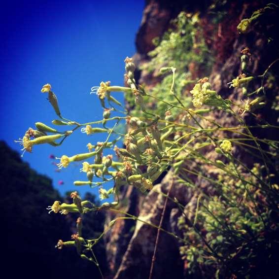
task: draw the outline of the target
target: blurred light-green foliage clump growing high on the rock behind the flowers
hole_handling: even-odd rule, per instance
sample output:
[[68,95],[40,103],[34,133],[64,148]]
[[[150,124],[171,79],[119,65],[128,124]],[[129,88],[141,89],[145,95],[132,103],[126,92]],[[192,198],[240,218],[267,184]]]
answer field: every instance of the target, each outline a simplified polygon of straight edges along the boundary
[[[148,53],[150,61],[144,63],[140,70],[153,72],[155,77],[162,80],[151,88],[150,93],[154,97],[164,99],[168,103],[173,103],[173,97],[170,88],[173,82],[172,72],[158,72],[162,67],[174,67],[175,81],[174,89],[178,98],[184,99],[186,106],[190,105],[190,99],[185,97],[185,89],[187,85],[195,83],[196,80],[191,79],[189,65],[202,68],[204,75],[207,75],[211,69],[212,57],[202,34],[199,23],[199,14],[190,14],[181,12],[176,19],[172,21],[173,29],[167,31],[162,39],[155,38],[153,43],[156,46],[154,50]],[[133,107],[133,98],[129,94],[125,95],[130,107]],[[157,114],[163,115],[167,110],[167,105],[161,102],[147,102],[147,107],[156,109]],[[141,110],[134,108],[135,113],[141,116]],[[173,114],[179,113],[174,107]]]

